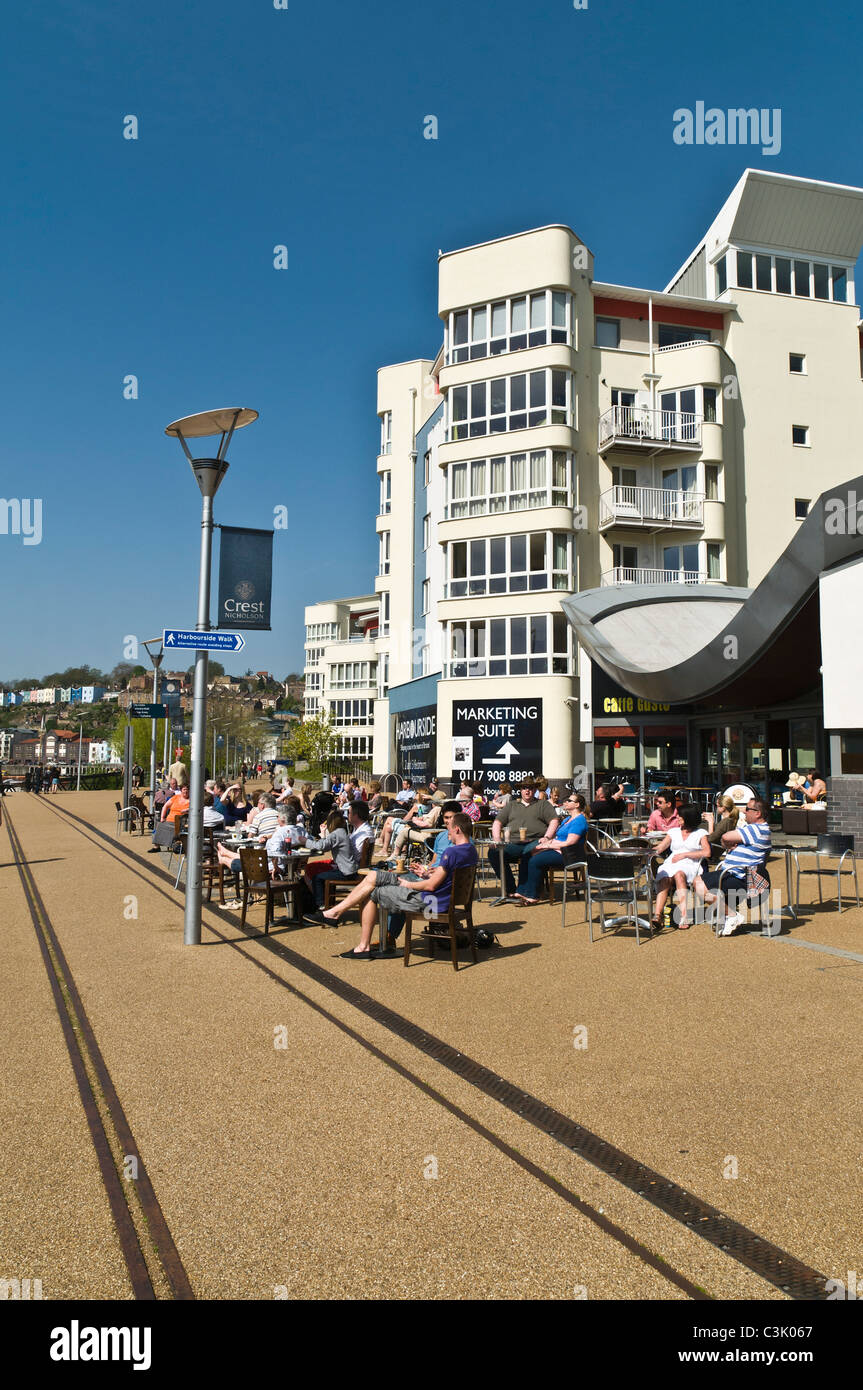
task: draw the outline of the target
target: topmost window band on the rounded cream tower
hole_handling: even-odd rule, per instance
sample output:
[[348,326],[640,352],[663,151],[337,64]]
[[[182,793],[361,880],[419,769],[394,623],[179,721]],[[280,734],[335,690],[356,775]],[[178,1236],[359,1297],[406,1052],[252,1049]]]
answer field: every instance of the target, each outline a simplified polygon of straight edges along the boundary
[[560,289],[460,309],[449,316],[445,360],[477,361],[546,343],[570,343],[571,321],[573,297]]

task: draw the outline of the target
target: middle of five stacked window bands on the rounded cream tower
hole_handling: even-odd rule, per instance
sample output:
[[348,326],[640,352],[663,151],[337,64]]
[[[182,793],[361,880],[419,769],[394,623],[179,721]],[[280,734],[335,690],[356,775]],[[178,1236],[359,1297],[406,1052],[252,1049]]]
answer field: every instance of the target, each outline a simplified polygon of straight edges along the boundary
[[450,463],[445,514],[453,520],[527,507],[568,507],[573,506],[571,475],[573,456],[561,449]]

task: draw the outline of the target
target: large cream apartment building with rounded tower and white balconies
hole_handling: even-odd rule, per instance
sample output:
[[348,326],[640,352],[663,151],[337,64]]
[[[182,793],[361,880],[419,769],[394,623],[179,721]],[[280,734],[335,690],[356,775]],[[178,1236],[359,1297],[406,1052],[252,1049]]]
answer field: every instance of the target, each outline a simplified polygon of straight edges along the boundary
[[862,189],[749,170],[661,292],[564,225],[441,253],[438,356],[378,374],[375,771],[685,771],[684,721],[580,669],[563,603],[750,589],[856,474],[862,243]]

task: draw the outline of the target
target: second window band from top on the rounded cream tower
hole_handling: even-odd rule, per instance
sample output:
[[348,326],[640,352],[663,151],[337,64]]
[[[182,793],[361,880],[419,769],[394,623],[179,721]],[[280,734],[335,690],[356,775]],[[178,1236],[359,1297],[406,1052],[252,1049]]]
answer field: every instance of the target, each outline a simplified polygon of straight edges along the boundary
[[534,430],[546,424],[570,424],[568,371],[523,371],[453,386],[449,392],[447,439],[475,439],[510,430]]

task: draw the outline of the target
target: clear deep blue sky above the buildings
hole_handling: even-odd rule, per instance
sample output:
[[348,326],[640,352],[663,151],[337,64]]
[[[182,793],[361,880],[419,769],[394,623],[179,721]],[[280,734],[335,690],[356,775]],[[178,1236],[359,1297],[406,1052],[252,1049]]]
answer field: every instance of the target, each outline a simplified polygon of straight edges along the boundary
[[[200,502],[163,431],[221,404],[261,418],[235,438],[217,520],[290,516],[274,631],[235,669],[302,669],[303,605],[372,585],[375,370],[439,346],[438,247],[568,222],[598,278],[661,288],[746,165],[863,183],[846,7],[14,11],[0,495],[44,514],[42,545],[0,535],[0,680],[110,669],[125,634],[193,626]],[[698,100],[780,107],[781,153],[674,145],[673,111]]]

